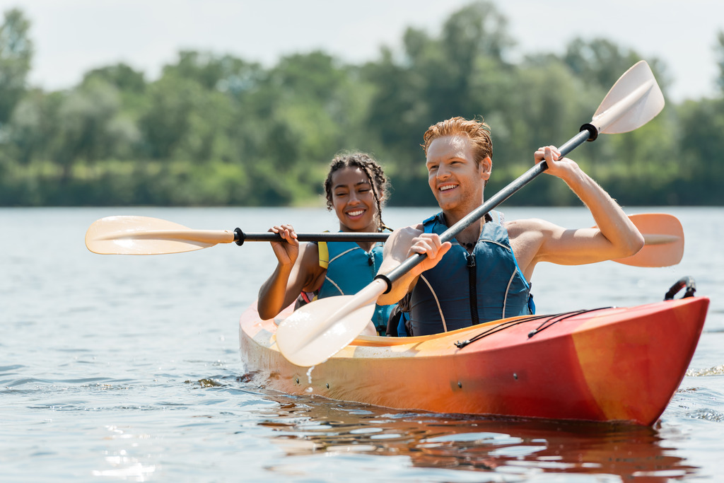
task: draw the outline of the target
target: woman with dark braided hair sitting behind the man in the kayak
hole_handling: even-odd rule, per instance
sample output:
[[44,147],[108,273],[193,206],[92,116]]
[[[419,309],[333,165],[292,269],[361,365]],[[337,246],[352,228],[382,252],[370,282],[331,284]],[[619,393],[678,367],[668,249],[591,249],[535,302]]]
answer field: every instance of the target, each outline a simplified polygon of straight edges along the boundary
[[[332,159],[324,191],[327,209],[334,210],[340,220],[340,231],[391,231],[382,222],[387,185],[382,167],[369,154],[343,154]],[[277,316],[295,300],[301,306],[314,298],[353,295],[372,281],[382,263],[382,243],[300,245],[290,224],[269,231],[279,233],[285,241],[271,242],[277,268],[259,289],[257,308],[262,319]],[[372,324],[364,333],[384,335],[392,308],[377,306]]]

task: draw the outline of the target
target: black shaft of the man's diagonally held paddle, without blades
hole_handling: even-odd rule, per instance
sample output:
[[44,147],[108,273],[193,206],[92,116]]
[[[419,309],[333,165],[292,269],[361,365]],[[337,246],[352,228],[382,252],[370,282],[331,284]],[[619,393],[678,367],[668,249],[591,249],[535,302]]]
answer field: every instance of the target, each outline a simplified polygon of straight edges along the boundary
[[[597,137],[598,130],[596,129],[596,127],[590,124],[584,124],[583,126],[581,126],[581,131],[577,135],[573,136],[573,138],[569,139],[565,144],[563,144],[563,146],[560,146],[560,148],[558,148],[558,151],[560,151],[560,157],[563,157],[566,154],[570,153],[571,151],[573,151],[573,149],[581,146],[581,144],[585,143],[587,140],[595,140]],[[489,198],[488,201],[478,206],[476,209],[463,217],[463,219],[460,219],[459,222],[453,224],[452,227],[445,230],[445,232],[440,235],[440,241],[442,241],[442,243],[445,243],[446,241],[450,241],[455,238],[458,233],[465,230],[468,226],[470,226],[472,222],[480,219],[481,217],[484,217],[488,211],[494,209],[500,203],[510,198],[513,193],[523,188],[523,186],[527,185],[536,176],[540,175],[546,169],[548,169],[548,164],[546,163],[546,161],[542,161],[536,164],[534,167],[531,167],[531,169],[523,173],[523,175],[513,180],[510,185],[502,188],[502,190],[498,191],[491,198]],[[387,290],[385,290],[384,293],[390,292],[390,290],[392,289],[392,283],[400,277],[403,277],[404,274],[409,272],[414,266],[423,261],[425,257],[426,255],[424,253],[416,253],[415,255],[409,257],[407,260],[403,261],[403,263],[397,266],[397,268],[395,268],[394,270],[392,270],[392,272],[388,274],[378,274],[375,278],[379,278],[387,282]]]

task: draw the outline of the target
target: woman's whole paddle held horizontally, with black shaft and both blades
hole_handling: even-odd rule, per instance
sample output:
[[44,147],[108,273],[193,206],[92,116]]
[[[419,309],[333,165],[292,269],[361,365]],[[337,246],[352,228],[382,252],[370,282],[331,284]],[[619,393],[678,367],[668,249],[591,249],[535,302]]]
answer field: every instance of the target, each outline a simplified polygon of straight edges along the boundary
[[[670,214],[634,214],[629,217],[644,235],[646,245],[635,256],[615,260],[635,266],[670,266],[683,255],[683,230]],[[389,232],[298,233],[299,241],[384,241]],[[245,233],[229,230],[192,230],[164,219],[117,216],[98,219],[85,233],[85,246],[101,255],[160,255],[182,253],[215,246],[217,243],[243,245],[245,241],[279,241],[277,233]]]

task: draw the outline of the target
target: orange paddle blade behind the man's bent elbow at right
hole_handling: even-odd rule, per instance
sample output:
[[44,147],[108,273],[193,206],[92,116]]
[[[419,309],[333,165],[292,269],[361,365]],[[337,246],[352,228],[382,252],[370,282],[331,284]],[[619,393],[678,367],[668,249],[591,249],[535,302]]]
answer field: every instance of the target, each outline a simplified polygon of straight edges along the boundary
[[614,261],[633,266],[672,266],[683,257],[683,227],[670,214],[635,214],[629,217],[646,244],[639,253]]

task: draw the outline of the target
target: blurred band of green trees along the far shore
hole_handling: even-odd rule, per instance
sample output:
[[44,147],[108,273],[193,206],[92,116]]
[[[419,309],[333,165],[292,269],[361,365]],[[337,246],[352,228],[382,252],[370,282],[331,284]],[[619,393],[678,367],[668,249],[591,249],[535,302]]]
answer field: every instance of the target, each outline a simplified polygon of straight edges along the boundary
[[[478,1],[439,33],[408,28],[400,49],[361,65],[324,51],[269,68],[230,55],[180,51],[156,80],[126,64],[87,72],[79,85],[28,85],[30,22],[0,25],[0,205],[321,204],[327,164],[368,151],[392,178],[392,205],[434,205],[420,143],[452,116],[492,126],[494,193],[588,121],[641,56],[605,38],[513,62],[505,17]],[[623,204],[724,204],[724,33],[715,46],[722,96],[668,107],[633,133],[602,136],[572,156]],[[662,90],[665,65],[647,59]],[[541,177],[508,203],[580,203]]]

